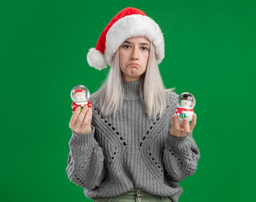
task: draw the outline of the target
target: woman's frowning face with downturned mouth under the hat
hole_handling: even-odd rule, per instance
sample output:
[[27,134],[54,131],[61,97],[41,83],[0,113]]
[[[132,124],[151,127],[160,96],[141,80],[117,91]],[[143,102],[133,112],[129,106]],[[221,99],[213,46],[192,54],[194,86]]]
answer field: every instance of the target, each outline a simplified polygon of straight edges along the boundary
[[150,41],[142,36],[128,38],[119,47],[119,65],[124,81],[137,81],[148,65]]

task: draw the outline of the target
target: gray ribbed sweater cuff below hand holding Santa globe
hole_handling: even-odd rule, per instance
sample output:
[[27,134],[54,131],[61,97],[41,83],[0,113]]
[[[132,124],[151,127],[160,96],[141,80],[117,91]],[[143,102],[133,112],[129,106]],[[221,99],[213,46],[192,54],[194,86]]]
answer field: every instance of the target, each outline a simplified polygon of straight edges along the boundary
[[92,146],[92,145],[94,145],[94,141],[96,141],[94,139],[94,131],[95,131],[94,127],[92,127],[91,132],[84,133],[84,134],[77,134],[76,132],[74,132],[72,130],[73,140],[81,146],[86,146],[86,147]]

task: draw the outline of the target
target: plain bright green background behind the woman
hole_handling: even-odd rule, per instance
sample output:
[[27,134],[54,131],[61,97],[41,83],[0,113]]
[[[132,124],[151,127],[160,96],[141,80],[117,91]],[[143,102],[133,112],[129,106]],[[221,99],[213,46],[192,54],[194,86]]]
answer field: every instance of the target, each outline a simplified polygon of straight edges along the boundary
[[161,27],[166,88],[197,101],[201,158],[179,201],[254,201],[254,0],[1,1],[0,200],[92,201],[65,173],[70,91],[93,93],[105,79],[108,70],[89,67],[86,54],[125,7]]

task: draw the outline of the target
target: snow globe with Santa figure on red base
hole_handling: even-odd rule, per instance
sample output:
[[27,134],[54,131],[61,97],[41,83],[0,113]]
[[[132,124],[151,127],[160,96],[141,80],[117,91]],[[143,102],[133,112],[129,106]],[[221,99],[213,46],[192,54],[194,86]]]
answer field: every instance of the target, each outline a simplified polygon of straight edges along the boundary
[[80,112],[82,111],[84,106],[92,107],[92,104],[90,101],[88,101],[90,97],[90,92],[88,88],[86,88],[84,85],[76,85],[70,93],[72,102],[72,111],[76,110],[76,108],[80,108]]

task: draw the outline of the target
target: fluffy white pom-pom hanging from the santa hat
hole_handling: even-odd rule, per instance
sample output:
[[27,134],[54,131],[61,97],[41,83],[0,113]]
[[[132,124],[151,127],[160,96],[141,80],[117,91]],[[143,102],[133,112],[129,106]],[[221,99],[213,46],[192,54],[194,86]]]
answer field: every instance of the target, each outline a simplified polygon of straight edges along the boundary
[[87,61],[91,67],[94,67],[97,70],[102,70],[108,67],[105,57],[101,52],[96,50],[96,48],[89,49]]

